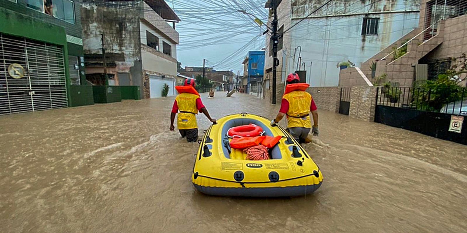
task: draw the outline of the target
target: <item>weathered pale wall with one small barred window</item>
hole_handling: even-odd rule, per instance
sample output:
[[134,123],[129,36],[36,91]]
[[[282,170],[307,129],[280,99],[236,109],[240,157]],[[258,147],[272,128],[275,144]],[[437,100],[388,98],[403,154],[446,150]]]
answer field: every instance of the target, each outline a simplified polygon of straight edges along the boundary
[[[321,5],[318,0],[294,0],[292,24]],[[416,28],[418,9],[418,0],[333,1],[291,30],[289,37],[293,40],[288,64],[294,63],[293,49],[301,46],[308,82],[312,86],[337,86],[338,62],[349,60],[360,67],[362,62]],[[361,35],[365,15],[380,18],[378,35]],[[313,62],[311,74],[310,62]],[[296,66],[289,66],[286,73],[295,69]]]

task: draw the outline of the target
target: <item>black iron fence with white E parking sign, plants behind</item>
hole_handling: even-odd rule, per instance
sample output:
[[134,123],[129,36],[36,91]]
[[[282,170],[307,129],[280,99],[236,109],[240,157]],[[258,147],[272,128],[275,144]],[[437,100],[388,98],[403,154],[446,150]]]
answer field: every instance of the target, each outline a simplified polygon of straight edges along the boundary
[[460,132],[450,131],[453,115],[467,116],[466,98],[464,88],[380,87],[376,94],[375,122],[467,144],[466,126]]

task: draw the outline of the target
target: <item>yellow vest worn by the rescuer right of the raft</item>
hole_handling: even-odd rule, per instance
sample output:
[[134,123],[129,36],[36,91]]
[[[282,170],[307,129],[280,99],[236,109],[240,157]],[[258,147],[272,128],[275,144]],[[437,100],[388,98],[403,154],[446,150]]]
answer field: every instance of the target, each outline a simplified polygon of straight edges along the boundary
[[289,102],[287,111],[287,128],[311,128],[310,106],[311,95],[306,91],[296,90],[285,94],[283,99]]

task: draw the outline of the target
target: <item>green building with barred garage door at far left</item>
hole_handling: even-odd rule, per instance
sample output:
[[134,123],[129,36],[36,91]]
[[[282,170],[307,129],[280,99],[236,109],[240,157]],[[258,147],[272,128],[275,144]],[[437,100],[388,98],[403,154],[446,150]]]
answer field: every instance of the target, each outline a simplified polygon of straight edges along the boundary
[[81,0],[0,0],[0,115],[93,104]]

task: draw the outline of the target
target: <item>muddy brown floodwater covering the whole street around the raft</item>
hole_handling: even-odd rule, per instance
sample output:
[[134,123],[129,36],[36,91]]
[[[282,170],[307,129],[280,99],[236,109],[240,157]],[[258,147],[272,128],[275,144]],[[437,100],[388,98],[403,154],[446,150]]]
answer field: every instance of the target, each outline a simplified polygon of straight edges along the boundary
[[[213,117],[279,108],[224,96],[202,95]],[[173,100],[0,117],[0,232],[467,232],[465,145],[319,111],[317,192],[212,197],[191,184],[198,144],[168,130]]]

